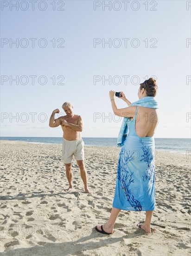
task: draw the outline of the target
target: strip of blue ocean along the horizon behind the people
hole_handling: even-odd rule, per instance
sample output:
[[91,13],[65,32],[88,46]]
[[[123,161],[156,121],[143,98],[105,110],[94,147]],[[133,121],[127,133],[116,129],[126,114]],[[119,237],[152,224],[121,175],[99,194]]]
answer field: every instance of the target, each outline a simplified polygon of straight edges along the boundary
[[[62,144],[62,137],[0,137],[0,140],[42,144]],[[86,146],[116,147],[117,138],[83,138]],[[186,154],[191,151],[191,139],[155,138],[155,149]]]

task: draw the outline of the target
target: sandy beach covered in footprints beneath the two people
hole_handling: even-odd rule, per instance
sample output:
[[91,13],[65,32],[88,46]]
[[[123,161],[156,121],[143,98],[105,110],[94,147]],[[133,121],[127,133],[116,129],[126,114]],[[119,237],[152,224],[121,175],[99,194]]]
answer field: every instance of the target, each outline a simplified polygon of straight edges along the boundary
[[121,211],[115,233],[108,220],[115,192],[119,148],[85,146],[89,189],[83,192],[73,160],[68,188],[61,145],[0,141],[1,256],[190,256],[190,161],[186,154],[156,152],[153,234],[137,228],[145,212]]

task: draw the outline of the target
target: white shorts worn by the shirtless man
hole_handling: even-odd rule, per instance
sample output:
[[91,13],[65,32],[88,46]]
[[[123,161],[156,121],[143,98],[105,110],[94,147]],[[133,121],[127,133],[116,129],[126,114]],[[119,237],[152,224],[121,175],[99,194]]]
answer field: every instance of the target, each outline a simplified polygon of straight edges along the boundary
[[83,146],[83,139],[67,141],[63,138],[61,162],[71,163],[73,155],[76,160],[84,160]]

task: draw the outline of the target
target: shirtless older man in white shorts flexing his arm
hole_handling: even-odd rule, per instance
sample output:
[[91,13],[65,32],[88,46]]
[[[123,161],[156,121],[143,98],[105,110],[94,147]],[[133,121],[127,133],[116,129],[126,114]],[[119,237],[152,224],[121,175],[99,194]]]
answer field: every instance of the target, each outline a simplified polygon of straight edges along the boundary
[[58,127],[61,125],[61,128],[63,129],[61,161],[65,164],[66,176],[69,182],[69,188],[65,189],[65,191],[70,192],[73,189],[71,162],[72,156],[74,155],[80,168],[81,178],[84,183],[84,192],[91,194],[92,192],[88,188],[87,172],[84,164],[84,141],[81,135],[83,130],[83,119],[80,115],[74,115],[73,106],[70,102],[64,102],[62,108],[64,109],[66,115],[54,119],[54,115],[60,112],[58,108],[55,109],[52,112],[49,126]]

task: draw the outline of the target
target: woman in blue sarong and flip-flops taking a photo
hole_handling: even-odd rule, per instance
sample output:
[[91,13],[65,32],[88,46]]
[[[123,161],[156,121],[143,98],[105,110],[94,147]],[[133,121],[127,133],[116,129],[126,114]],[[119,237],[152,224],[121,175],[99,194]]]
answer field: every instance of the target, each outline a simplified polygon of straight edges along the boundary
[[[158,125],[158,104],[154,99],[158,86],[150,78],[140,84],[139,101],[131,103],[121,92],[123,101],[129,107],[118,109],[115,103],[115,91],[109,96],[115,115],[125,117],[118,137],[122,146],[119,155],[113,207],[109,220],[95,229],[106,235],[113,233],[117,216],[121,209],[146,211],[143,224],[137,224],[146,233],[152,233],[151,218],[155,207],[155,144],[153,135]],[[134,115],[135,114],[135,115]],[[134,118],[131,118],[134,115]]]

